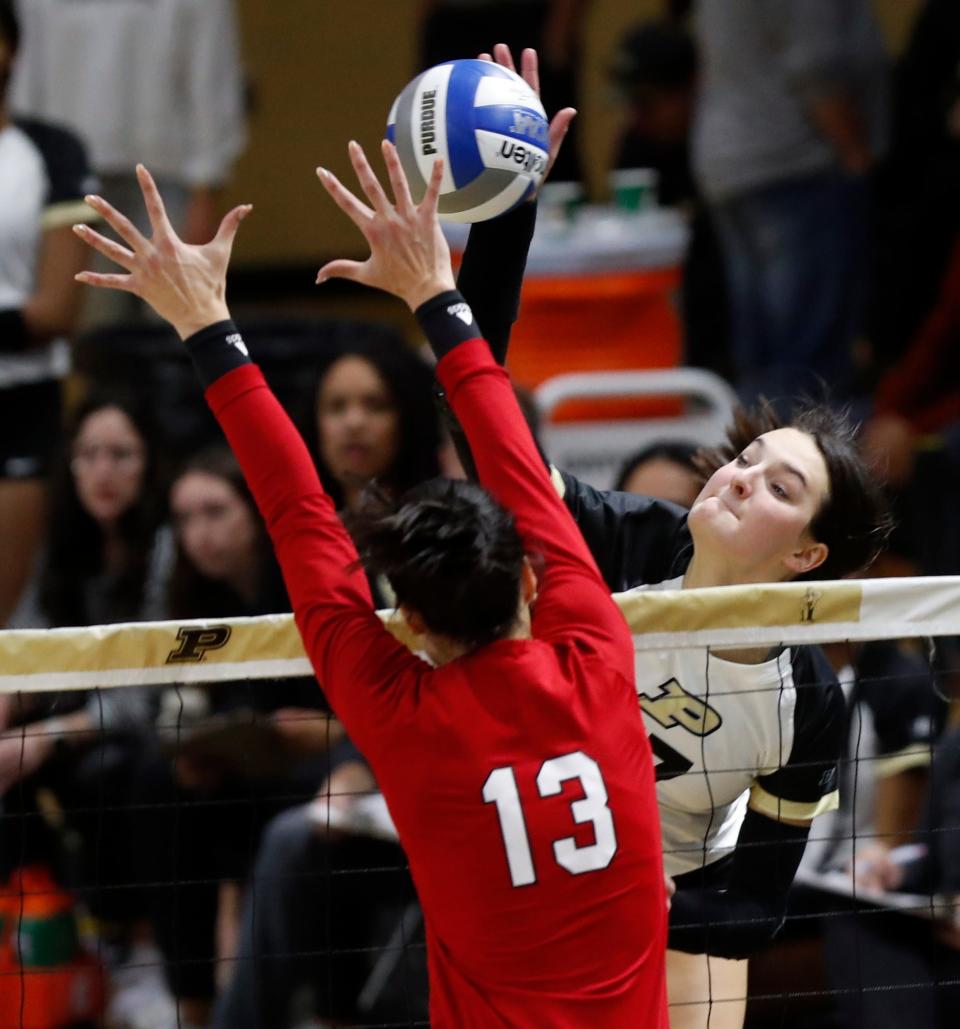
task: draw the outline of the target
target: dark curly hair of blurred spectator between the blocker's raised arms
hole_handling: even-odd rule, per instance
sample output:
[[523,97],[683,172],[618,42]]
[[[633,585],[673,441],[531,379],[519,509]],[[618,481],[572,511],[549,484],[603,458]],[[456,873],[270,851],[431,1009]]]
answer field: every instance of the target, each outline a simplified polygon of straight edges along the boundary
[[[396,458],[380,476],[378,484],[400,496],[418,483],[438,475],[437,450],[440,443],[439,424],[433,403],[433,374],[413,350],[392,341],[358,340],[336,350],[324,365],[314,390],[314,413],[323,382],[330,369],[344,357],[361,357],[368,361],[384,381],[398,415]],[[313,421],[313,431],[306,438],[314,440],[314,457],[323,488],[333,503],[343,506],[343,488],[321,456],[320,440]]]

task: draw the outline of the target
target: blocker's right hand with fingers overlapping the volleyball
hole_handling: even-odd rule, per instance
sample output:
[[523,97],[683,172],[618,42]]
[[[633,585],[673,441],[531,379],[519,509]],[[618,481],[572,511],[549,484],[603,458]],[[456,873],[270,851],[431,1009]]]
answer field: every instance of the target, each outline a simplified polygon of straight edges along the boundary
[[349,145],[350,162],[369,207],[331,172],[317,169],[326,191],[370,247],[365,261],[332,260],[324,264],[317,282],[350,279],[393,293],[415,311],[425,300],[454,288],[450,248],[436,216],[443,165],[434,162],[427,191],[420,204],[415,204],[393,144],[384,140],[381,148],[393,188],[392,204],[358,143]]

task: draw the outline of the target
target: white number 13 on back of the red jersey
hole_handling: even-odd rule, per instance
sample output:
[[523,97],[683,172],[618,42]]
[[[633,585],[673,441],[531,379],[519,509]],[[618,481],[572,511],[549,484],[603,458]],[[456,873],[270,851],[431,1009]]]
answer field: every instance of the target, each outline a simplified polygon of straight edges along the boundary
[[[537,773],[537,790],[540,796],[556,796],[571,779],[578,780],[583,790],[582,797],[570,803],[573,820],[577,824],[592,823],[595,842],[581,847],[573,837],[556,840],[554,859],[571,875],[581,876],[586,872],[599,872],[613,860],[616,829],[613,814],[607,807],[607,787],[600,766],[582,750],[544,761]],[[487,776],[484,803],[497,806],[510,881],[514,886],[530,886],[537,881],[537,875],[517,776],[509,765],[494,769]]]

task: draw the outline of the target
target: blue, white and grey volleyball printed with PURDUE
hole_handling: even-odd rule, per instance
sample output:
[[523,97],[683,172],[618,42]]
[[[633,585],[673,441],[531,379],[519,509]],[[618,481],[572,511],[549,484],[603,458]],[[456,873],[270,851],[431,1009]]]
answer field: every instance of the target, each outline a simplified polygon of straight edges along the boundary
[[539,97],[515,72],[488,61],[451,61],[418,75],[387,119],[418,203],[443,159],[439,215],[486,221],[539,188],[549,155]]

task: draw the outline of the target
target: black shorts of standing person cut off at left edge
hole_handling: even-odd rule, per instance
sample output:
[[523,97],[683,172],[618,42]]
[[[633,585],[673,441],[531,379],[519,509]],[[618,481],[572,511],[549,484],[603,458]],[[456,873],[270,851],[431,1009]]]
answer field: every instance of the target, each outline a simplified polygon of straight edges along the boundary
[[0,480],[44,478],[60,435],[56,379],[0,389]]

